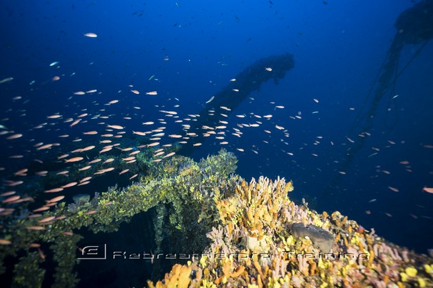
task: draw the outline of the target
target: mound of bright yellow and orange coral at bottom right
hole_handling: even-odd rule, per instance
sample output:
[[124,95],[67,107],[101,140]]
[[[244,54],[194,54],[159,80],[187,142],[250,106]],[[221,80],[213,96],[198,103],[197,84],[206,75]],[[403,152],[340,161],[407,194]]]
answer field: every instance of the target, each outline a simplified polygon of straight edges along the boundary
[[238,180],[216,200],[220,224],[208,232],[208,252],[148,285],[170,287],[180,278],[189,287],[433,285],[431,258],[387,243],[339,212],[297,206],[287,196],[291,190],[284,179]]

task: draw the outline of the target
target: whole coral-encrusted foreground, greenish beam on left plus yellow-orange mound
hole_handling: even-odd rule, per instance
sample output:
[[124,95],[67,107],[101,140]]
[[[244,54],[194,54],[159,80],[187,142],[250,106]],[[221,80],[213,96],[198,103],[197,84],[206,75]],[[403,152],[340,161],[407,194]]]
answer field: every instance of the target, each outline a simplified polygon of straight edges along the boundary
[[[167,243],[172,251],[202,252],[189,261],[173,259],[171,271],[149,280],[150,287],[433,285],[432,258],[388,243],[337,211],[296,205],[289,199],[292,182],[284,178],[246,182],[234,174],[236,157],[225,149],[199,163],[138,155],[146,173],[129,187],[110,187],[91,199],[78,195],[76,203],[41,214],[3,217],[1,273],[5,258],[16,257],[12,283],[41,287],[49,245],[53,286],[74,287],[78,259],[71,251],[82,239],[80,229],[115,232],[134,215],[152,212],[155,254],[164,255]],[[153,269],[154,275],[168,271],[159,259]]]

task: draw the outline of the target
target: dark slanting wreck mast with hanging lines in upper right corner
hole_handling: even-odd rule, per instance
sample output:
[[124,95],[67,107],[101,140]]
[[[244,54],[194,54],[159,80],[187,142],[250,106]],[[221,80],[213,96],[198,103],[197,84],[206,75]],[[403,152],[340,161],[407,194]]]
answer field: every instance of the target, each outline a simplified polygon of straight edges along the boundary
[[[395,101],[395,85],[399,77],[412,61],[419,56],[428,41],[433,38],[433,0],[421,1],[412,8],[403,11],[397,18],[395,27],[397,32],[377,73],[375,82],[366,96],[364,107],[360,110],[357,119],[355,119],[348,131],[348,134],[357,132],[357,141],[351,146],[351,149],[348,149],[337,171],[346,171],[357,152],[364,147],[367,139],[365,132],[369,132],[373,128],[377,107],[381,104],[382,99],[388,97],[389,108],[392,101]],[[412,58],[401,67],[400,54],[406,45],[419,45],[419,47]],[[373,93],[374,88],[375,92]],[[332,191],[335,191],[341,177],[341,173],[335,173],[327,189],[321,195],[322,200],[325,200]]]

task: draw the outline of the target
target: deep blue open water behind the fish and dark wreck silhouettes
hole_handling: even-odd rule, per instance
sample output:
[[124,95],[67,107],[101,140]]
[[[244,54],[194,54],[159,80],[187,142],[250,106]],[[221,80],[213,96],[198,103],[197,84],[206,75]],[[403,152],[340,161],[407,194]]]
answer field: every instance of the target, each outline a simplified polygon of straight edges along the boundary
[[[370,108],[364,99],[377,87],[377,73],[397,33],[394,23],[414,3],[1,1],[0,80],[14,80],[0,84],[0,124],[24,136],[13,145],[1,136],[0,166],[6,171],[22,167],[25,160],[8,158],[14,154],[37,158],[32,146],[40,141],[67,145],[71,137],[59,139],[58,135],[82,136],[82,132],[101,130],[99,120],[88,119],[74,129],[62,121],[47,121],[56,112],[65,117],[83,112],[98,115],[105,108],[105,115],[113,115],[107,123],[124,125],[131,134],[144,129],[142,122],[162,118],[158,112],[162,106],[188,117],[256,60],[292,53],[295,67],[278,84],[266,82],[249,95],[254,100],[245,99],[230,117],[222,119],[229,122],[229,144],[207,139],[192,156],[198,160],[225,147],[238,156],[237,173],[243,178],[264,175],[293,180],[295,190],[289,196],[298,204],[304,198],[319,212],[340,211],[367,229],[375,228],[389,241],[426,253],[433,248],[433,195],[422,191],[433,187],[433,149],[423,147],[433,145],[432,41],[397,80],[399,96],[390,106],[388,101],[395,95],[387,93],[381,99],[371,136],[346,174],[340,174],[337,187],[325,193],[354,144],[347,137],[356,142],[357,134],[363,132],[362,125],[349,130],[358,113]],[[89,32],[98,37],[85,37]],[[400,68],[418,48],[403,48]],[[55,61],[59,63],[50,67]],[[52,81],[54,76],[60,80]],[[98,93],[74,95],[91,89]],[[146,91],[158,91],[158,95],[144,95]],[[22,99],[12,100],[18,95]],[[120,101],[103,105],[113,99]],[[177,104],[179,108],[173,108]],[[278,105],[285,108],[275,108]],[[273,117],[249,122],[235,117],[249,112]],[[290,118],[296,115],[302,119]],[[231,135],[236,123],[253,120],[263,125],[243,128],[241,138]],[[54,124],[33,129],[44,122]],[[275,125],[287,128],[290,136],[285,137]],[[180,127],[171,121],[166,133],[176,133]],[[403,160],[410,162],[412,172],[399,164]],[[120,181],[109,180],[105,187]],[[96,188],[89,185],[75,191],[93,193]]]

